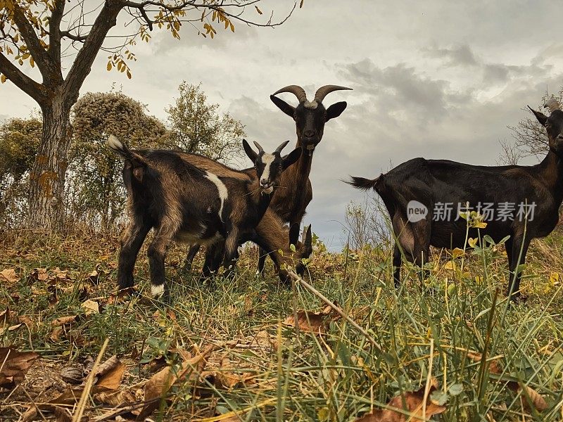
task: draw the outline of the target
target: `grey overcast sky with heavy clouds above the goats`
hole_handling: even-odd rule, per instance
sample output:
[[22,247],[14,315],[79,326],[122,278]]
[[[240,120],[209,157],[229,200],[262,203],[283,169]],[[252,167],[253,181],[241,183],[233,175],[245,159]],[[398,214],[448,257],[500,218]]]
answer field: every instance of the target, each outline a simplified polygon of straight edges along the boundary
[[[269,4],[281,17],[293,2]],[[562,10],[544,0],[305,0],[275,29],[238,24],[234,34],[203,39],[185,27],[181,41],[156,30],[134,49],[131,80],[108,73],[101,53],[81,94],[115,82],[164,119],[179,83],[201,82],[210,101],[246,125],[248,139],[274,148],[296,135],[270,94],[289,84],[309,96],[324,84],[353,88],[324,100],[348,108],[327,123],[315,151],[305,216],[337,249],[346,241],[346,204],[363,198],[340,181],[348,174],[373,178],[420,156],[495,164],[499,141],[511,139],[507,126],[526,117],[526,104],[537,107],[546,89],[563,85]],[[292,94],[281,96],[296,105]],[[0,119],[35,107],[10,82],[0,86]]]

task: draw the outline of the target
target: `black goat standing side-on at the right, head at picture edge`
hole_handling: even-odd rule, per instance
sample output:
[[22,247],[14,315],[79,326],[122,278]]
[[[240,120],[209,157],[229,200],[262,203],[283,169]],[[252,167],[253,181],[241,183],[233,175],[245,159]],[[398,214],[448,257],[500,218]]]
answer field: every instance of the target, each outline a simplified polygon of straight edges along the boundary
[[[486,222],[482,235],[488,234],[495,242],[510,236],[505,242],[511,274],[507,295],[519,299],[521,274],[517,267],[525,262],[531,239],[548,236],[555,229],[563,200],[563,111],[555,99],[545,107],[550,108],[549,117],[530,108],[547,129],[549,139],[548,155],[538,165],[486,167],[414,158],[376,179],[352,177],[347,182],[364,190],[373,188],[384,201],[396,239],[396,287],[400,283],[401,249],[407,260],[422,267],[431,245],[464,248],[467,222],[451,217],[457,206],[458,216],[470,210],[481,215]],[[478,236],[475,227],[469,229],[469,236]]]

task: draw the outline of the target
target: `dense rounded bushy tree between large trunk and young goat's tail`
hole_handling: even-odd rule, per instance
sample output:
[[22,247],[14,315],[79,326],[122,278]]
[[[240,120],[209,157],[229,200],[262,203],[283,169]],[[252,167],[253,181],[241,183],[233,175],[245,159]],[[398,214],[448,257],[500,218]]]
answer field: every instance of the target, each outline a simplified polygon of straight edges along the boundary
[[110,134],[129,146],[157,148],[166,142],[164,124],[146,106],[121,92],[87,93],[72,108],[69,194],[72,215],[108,229],[122,215],[125,188],[122,158],[110,151]]

